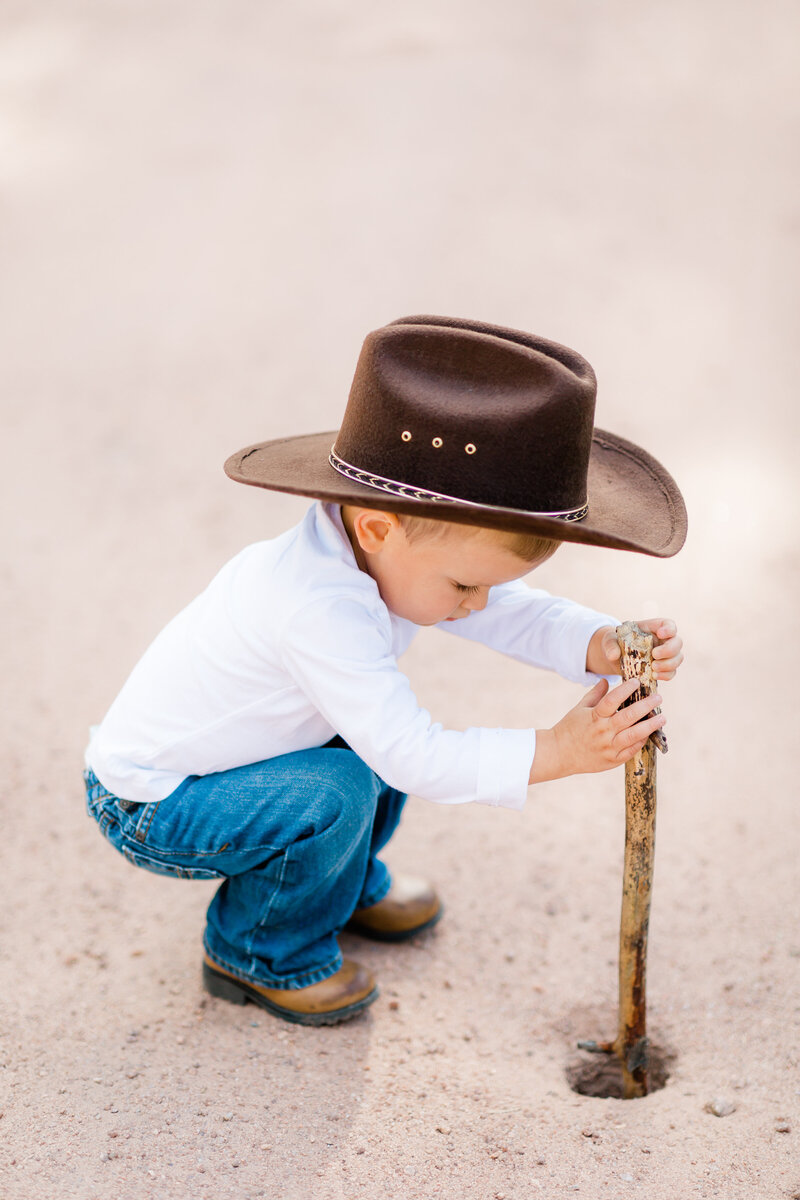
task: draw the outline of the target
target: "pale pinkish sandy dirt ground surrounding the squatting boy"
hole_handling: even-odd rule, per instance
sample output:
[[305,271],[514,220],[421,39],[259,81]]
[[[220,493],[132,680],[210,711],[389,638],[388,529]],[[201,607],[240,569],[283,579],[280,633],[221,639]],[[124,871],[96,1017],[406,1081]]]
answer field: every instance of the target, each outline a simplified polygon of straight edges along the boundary
[[[2,1200],[800,1195],[798,32],[782,0],[2,6]],[[420,311],[579,348],[687,499],[673,560],[539,572],[687,643],[642,1100],[567,1078],[614,1032],[620,772],[413,799],[389,860],[446,919],[343,940],[383,994],[321,1031],[206,998],[210,886],[84,814],[138,655],[303,511],[224,457],[333,428],[363,334]],[[581,695],[435,632],[405,668],[453,727]]]

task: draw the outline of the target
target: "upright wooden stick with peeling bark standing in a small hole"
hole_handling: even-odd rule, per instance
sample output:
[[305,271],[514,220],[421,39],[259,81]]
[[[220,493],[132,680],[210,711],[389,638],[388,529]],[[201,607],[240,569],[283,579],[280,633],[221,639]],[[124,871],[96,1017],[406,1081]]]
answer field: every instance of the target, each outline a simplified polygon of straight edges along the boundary
[[[652,634],[631,620],[616,629],[624,679],[640,686],[628,703],[656,690]],[[655,709],[657,712],[657,709]],[[619,1025],[613,1050],[622,1068],[625,1099],[648,1094],[645,976],[656,832],[656,745],[664,754],[662,731],[652,734],[625,764],[625,866],[619,932]]]

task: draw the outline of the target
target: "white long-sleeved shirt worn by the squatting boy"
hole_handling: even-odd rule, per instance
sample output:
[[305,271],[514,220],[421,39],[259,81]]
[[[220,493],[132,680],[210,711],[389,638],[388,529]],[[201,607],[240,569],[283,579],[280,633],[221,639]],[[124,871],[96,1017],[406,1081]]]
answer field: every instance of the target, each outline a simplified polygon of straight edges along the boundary
[[[443,624],[576,683],[613,617],[518,581]],[[94,731],[86,764],[115,796],[149,803],[206,775],[320,746],[336,733],[392,787],[444,804],[522,809],[534,730],[434,724],[397,665],[417,628],[360,570],[338,506],[314,504],[248,546],[167,625]]]

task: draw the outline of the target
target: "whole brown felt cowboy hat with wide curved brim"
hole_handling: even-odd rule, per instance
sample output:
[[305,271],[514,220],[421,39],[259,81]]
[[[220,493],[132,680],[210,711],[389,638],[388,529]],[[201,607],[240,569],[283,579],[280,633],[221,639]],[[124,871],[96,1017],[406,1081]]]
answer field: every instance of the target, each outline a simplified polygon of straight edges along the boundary
[[369,334],[342,427],[231,455],[231,479],[336,504],[537,533],[668,558],[678,485],[594,428],[595,373],[533,334],[403,317]]

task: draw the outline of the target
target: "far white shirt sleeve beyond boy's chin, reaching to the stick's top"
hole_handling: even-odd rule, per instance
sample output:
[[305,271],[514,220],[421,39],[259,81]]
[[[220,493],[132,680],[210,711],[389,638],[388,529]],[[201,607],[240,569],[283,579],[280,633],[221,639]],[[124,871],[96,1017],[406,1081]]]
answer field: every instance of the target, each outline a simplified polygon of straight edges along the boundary
[[587,671],[587,650],[593,634],[606,625],[616,626],[619,620],[517,580],[492,588],[480,612],[437,628],[590,686],[601,677]]

